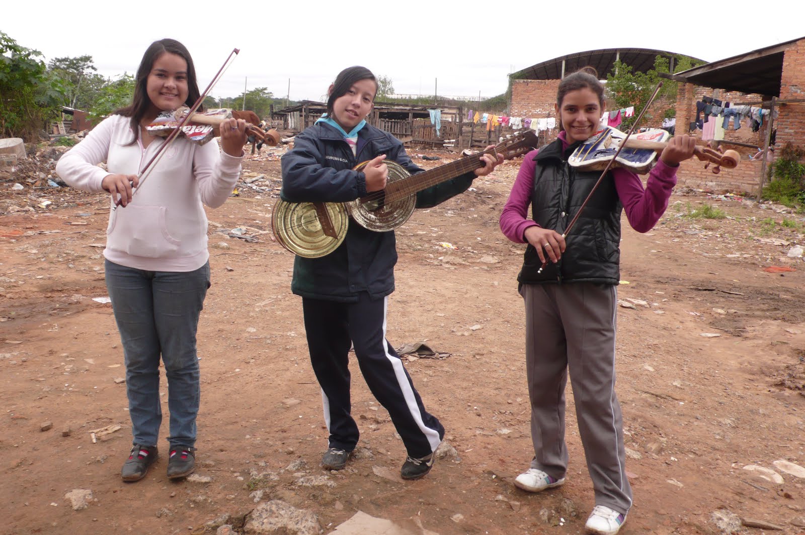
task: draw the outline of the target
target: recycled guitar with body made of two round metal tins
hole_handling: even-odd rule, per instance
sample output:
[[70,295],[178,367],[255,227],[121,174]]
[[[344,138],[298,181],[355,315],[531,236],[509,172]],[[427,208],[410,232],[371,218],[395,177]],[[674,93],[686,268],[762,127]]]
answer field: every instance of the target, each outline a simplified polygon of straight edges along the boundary
[[[402,226],[416,206],[416,194],[441,182],[483,167],[485,153],[511,159],[526,148],[535,148],[532,130],[506,138],[484,152],[461,157],[448,164],[409,174],[395,161],[386,161],[389,176],[386,189],[373,191],[350,202],[287,202],[278,199],[271,215],[271,227],[277,241],[295,255],[319,258],[341,245],[347,234],[349,218],[370,231],[388,232]],[[360,171],[367,162],[355,167]]]

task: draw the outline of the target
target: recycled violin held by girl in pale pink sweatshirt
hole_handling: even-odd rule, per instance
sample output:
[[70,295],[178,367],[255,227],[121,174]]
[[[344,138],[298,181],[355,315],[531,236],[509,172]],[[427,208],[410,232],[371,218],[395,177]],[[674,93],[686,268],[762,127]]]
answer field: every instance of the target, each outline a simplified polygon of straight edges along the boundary
[[[152,136],[167,137],[175,129],[179,128],[180,122],[187,115],[189,108],[182,106],[174,112],[160,112],[156,119],[146,126],[146,130]],[[190,141],[196,141],[199,145],[204,145],[207,141],[221,135],[219,126],[221,123],[232,117],[232,110],[229,108],[211,109],[206,112],[195,112],[182,125],[181,133]],[[246,123],[246,134],[254,136],[258,141],[262,141],[271,147],[280,141],[279,133],[275,129],[263,132],[260,127]]]

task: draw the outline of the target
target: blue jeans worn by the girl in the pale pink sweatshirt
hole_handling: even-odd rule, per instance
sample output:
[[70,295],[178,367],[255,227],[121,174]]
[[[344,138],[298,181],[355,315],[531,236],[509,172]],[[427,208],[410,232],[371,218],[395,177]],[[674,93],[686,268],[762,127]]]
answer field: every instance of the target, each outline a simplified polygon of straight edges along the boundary
[[171,448],[196,445],[200,402],[196,329],[209,288],[209,263],[193,272],[147,272],[105,261],[126,361],[134,443],[155,446],[162,423],[159,357],[167,376]]

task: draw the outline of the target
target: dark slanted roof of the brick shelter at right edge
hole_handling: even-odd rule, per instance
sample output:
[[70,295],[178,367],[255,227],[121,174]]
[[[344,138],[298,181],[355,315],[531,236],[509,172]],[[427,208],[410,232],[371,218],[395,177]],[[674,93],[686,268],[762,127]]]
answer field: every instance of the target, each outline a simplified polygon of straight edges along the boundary
[[791,39],[746,54],[733,55],[731,58],[720,59],[663,78],[706,88],[780,96],[782,57],[791,43],[796,43],[800,39],[805,38]]

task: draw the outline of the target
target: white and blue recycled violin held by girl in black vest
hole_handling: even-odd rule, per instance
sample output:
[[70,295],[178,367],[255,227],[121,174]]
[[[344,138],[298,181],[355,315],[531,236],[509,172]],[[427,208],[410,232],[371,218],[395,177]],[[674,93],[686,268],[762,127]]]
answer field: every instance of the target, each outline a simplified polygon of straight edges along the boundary
[[[579,145],[568,158],[568,164],[588,171],[604,169],[625,137],[626,134],[620,130],[606,127]],[[632,134],[610,168],[625,167],[634,173],[646,174],[654,165],[657,154],[667,147],[669,137],[670,133],[659,129]],[[716,174],[720,173],[721,168],[735,169],[741,163],[741,155],[734,150],[722,153],[696,145],[693,155],[706,162],[705,169],[711,163],[716,164],[712,168],[712,172]]]

